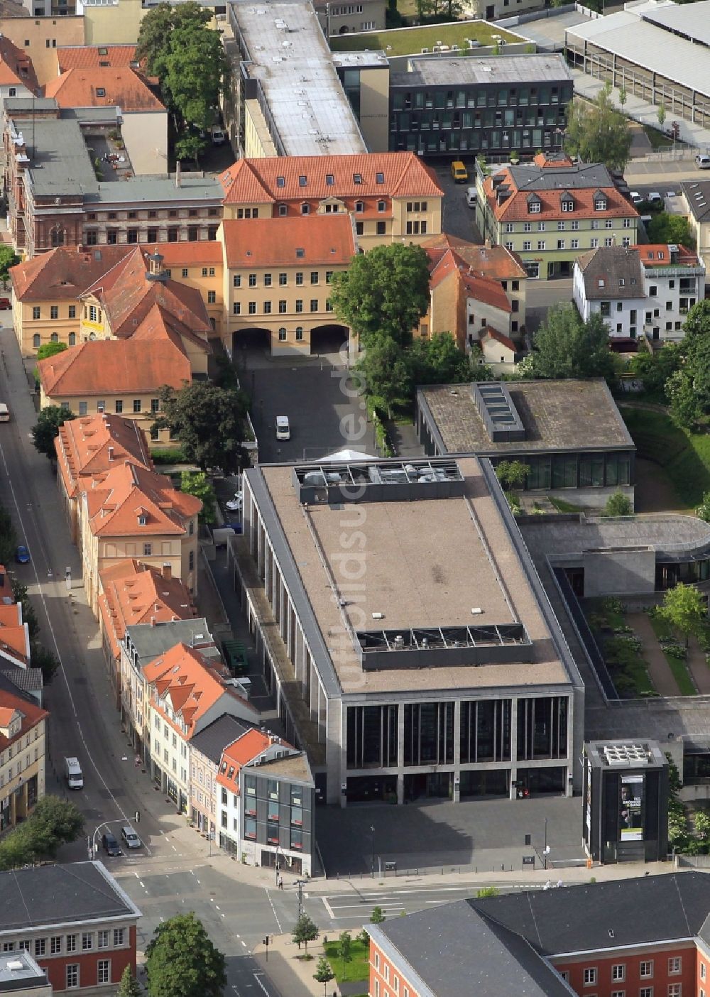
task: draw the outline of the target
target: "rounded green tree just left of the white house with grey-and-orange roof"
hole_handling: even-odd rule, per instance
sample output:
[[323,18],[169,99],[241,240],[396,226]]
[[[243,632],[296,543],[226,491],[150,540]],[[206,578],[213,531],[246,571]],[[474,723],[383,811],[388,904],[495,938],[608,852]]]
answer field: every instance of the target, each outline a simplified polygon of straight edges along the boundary
[[539,378],[615,378],[609,330],[598,312],[582,322],[574,305],[553,305],[533,341],[530,361]]

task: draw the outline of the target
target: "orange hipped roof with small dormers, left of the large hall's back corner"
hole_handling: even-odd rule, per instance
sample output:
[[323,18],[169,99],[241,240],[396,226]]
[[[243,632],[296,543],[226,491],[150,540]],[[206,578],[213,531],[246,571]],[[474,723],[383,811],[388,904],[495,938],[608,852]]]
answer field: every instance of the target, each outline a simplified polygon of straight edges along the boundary
[[92,532],[98,536],[181,535],[185,532],[184,520],[202,507],[199,498],[174,489],[166,475],[157,475],[130,461],[113,468],[94,484],[83,495]]

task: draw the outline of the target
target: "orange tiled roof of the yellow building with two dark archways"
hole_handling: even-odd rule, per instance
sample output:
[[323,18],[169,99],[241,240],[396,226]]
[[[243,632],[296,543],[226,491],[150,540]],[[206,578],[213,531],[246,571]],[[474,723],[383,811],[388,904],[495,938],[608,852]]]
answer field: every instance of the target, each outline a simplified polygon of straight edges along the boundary
[[228,267],[346,265],[356,252],[349,214],[222,221]]

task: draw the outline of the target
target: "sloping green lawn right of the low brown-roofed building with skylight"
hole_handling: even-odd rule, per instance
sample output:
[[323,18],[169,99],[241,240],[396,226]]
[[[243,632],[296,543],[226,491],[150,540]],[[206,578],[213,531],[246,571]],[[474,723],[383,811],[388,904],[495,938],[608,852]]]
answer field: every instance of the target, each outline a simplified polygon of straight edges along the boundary
[[710,435],[679,429],[662,412],[620,406],[638,456],[660,465],[687,508],[710,491]]

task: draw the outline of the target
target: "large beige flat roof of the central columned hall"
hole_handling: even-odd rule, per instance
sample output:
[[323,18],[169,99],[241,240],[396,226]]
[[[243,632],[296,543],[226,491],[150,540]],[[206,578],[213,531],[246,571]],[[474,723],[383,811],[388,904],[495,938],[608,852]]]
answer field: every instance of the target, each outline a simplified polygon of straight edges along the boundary
[[[459,498],[309,503],[307,508],[299,504],[291,466],[260,465],[245,472],[294,602],[305,594],[299,615],[306,633],[311,624],[315,628],[308,635],[311,650],[317,658],[327,656],[345,694],[564,687],[571,681],[573,662],[490,465],[485,470],[472,457],[457,463],[464,478]],[[261,486],[278,529],[269,522]],[[347,555],[341,537],[355,529],[353,523],[364,536],[361,551],[358,547],[362,561],[357,558],[364,574],[357,589],[347,578],[352,565],[342,562]],[[345,605],[334,598],[331,579]],[[373,613],[382,613],[383,622],[376,623]],[[533,641],[528,663],[381,671],[362,669],[345,626],[407,630],[513,621],[522,622]]]

